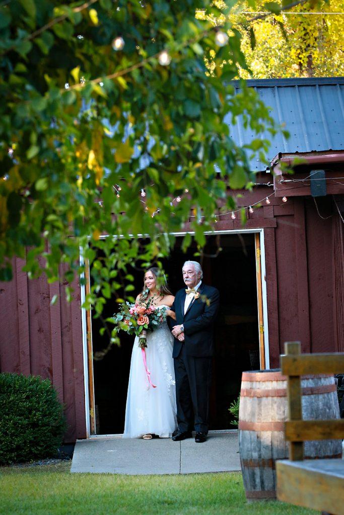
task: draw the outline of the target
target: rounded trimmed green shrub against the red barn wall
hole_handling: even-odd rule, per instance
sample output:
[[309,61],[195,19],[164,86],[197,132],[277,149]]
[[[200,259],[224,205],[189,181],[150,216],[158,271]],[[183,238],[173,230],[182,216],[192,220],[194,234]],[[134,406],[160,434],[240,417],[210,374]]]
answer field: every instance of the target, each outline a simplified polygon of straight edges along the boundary
[[50,380],[0,374],[0,464],[56,455],[64,431],[63,408]]

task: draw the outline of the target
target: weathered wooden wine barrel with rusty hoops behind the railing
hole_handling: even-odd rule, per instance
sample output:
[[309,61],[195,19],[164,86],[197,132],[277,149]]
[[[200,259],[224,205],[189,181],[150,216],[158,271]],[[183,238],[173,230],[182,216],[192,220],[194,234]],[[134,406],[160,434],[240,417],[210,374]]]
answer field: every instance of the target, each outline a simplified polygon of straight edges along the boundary
[[[302,384],[304,420],[339,416],[333,375],[305,375]],[[239,451],[248,501],[276,497],[275,460],[288,458],[284,438],[287,419],[287,377],[279,369],[243,372],[239,407]],[[341,440],[304,443],[305,458],[341,457]]]

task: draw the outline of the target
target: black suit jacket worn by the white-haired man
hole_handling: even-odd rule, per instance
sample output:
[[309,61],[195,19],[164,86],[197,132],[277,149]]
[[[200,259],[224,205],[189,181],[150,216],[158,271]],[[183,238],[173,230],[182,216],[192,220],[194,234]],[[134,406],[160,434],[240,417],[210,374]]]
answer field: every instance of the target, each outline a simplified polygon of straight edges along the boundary
[[219,310],[219,290],[201,283],[197,290],[201,296],[205,295],[209,305],[201,296],[194,299],[184,315],[185,288],[177,291],[171,310],[176,314],[176,321],[169,319],[170,329],[173,325],[184,325],[185,340],[174,338],[173,357],[177,357],[185,345],[189,356],[209,357],[214,353],[213,328]]

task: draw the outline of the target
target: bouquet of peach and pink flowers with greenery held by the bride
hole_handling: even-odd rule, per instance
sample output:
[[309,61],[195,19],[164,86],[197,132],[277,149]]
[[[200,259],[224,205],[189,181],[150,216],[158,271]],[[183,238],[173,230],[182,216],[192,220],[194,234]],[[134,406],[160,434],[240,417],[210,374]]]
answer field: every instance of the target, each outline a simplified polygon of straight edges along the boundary
[[157,309],[153,304],[153,298],[147,299],[148,293],[149,291],[145,290],[140,301],[135,304],[122,304],[120,311],[113,315],[119,330],[139,337],[141,349],[147,347],[147,331],[154,331],[166,320],[166,307]]

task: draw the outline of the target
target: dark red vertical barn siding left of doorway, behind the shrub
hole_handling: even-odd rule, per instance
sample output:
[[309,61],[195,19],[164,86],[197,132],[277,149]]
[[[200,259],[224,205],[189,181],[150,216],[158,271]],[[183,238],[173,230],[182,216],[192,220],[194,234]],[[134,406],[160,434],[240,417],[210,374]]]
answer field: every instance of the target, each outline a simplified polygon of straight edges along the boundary
[[69,304],[64,285],[28,280],[23,264],[14,259],[13,280],[0,285],[0,370],[50,379],[67,417],[64,441],[73,442],[86,437],[79,284]]

